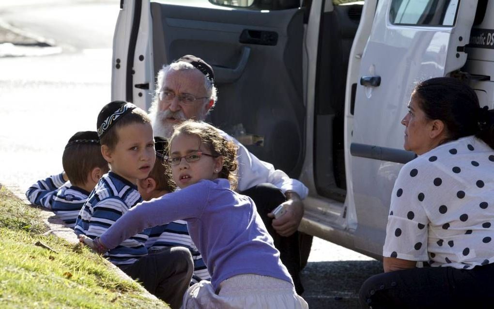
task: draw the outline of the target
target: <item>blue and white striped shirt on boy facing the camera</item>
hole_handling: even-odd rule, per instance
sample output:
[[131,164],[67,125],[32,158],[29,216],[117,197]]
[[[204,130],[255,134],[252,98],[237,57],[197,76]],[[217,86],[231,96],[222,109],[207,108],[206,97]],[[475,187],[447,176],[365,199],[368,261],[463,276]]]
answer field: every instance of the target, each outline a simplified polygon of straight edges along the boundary
[[[110,171],[99,179],[82,207],[75,232],[94,239],[139,202],[142,202],[142,198],[137,186]],[[105,253],[105,257],[115,265],[133,264],[148,254],[145,243],[149,232],[150,229],[147,229],[126,239],[115,249]]]

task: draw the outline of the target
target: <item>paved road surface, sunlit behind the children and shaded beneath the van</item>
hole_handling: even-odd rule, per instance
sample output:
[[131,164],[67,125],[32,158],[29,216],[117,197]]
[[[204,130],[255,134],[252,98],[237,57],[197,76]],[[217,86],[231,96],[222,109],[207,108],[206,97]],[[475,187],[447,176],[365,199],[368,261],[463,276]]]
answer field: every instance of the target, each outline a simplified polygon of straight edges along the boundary
[[[94,11],[78,9],[81,14]],[[116,12],[108,12],[116,18]],[[25,13],[22,18],[33,16]],[[0,183],[25,191],[35,180],[58,173],[66,140],[73,132],[94,130],[88,119],[110,99],[111,32],[92,45],[84,43],[86,48],[62,48],[6,30],[0,23]],[[359,308],[360,285],[381,267],[369,257],[316,238],[302,272],[303,296],[314,309]]]

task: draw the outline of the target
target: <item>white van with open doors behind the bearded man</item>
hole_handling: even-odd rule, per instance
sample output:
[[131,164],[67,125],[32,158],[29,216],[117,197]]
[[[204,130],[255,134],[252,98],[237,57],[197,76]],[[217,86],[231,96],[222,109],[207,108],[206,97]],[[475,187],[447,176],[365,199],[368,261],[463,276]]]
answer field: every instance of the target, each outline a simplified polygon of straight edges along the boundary
[[379,258],[415,157],[400,124],[413,84],[467,79],[493,108],[494,1],[203,1],[121,1],[112,99],[147,109],[163,64],[203,58],[219,89],[208,121],[309,187],[300,230]]

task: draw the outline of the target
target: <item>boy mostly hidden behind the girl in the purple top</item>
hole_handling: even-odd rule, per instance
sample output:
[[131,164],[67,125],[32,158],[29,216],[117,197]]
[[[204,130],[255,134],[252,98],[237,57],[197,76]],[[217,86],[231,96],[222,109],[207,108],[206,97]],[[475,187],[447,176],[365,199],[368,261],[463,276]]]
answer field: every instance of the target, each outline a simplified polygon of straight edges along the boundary
[[[166,193],[175,190],[175,183],[170,181],[165,169],[165,153],[168,141],[160,136],[155,136],[156,162],[149,177],[137,180],[137,188],[142,199],[149,201],[159,198]],[[146,241],[146,248],[150,253],[162,251],[163,249],[175,246],[186,247],[192,254],[194,260],[194,273],[190,285],[201,280],[211,280],[203,261],[201,253],[192,241],[187,229],[187,222],[177,220],[168,224],[159,225],[150,229],[149,238]]]

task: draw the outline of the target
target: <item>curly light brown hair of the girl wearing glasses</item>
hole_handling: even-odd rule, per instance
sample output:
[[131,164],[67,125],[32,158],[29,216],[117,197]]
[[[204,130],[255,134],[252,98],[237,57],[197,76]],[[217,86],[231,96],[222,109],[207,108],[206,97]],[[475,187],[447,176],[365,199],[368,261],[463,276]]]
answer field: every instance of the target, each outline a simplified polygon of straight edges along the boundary
[[[237,151],[238,146],[232,141],[226,140],[221,136],[220,132],[213,126],[204,122],[197,122],[194,120],[186,120],[180,125],[175,127],[173,134],[170,137],[168,143],[167,153],[170,154],[170,145],[173,142],[173,138],[178,134],[196,135],[201,140],[201,143],[206,146],[211,152],[213,157],[223,157],[223,167],[218,173],[218,178],[228,179],[230,182],[230,188],[235,190],[237,188]],[[167,164],[166,173],[168,179],[173,182],[171,177],[171,168]],[[173,182],[175,185],[175,183]]]

